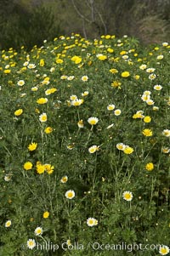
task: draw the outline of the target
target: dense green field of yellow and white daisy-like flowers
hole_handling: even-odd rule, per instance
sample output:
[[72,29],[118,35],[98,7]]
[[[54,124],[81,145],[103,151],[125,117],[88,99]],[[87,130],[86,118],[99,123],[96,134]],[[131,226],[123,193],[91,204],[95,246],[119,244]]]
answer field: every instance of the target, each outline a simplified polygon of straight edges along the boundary
[[78,34],[1,51],[0,255],[169,254],[169,53]]

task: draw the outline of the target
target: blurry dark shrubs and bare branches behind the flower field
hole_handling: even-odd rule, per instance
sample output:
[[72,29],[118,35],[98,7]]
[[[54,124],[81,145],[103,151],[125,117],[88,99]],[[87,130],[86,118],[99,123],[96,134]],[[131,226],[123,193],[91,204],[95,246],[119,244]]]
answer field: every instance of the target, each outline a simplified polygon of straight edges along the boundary
[[142,43],[170,38],[169,0],[0,0],[0,48],[30,49],[44,39],[80,33],[127,34]]

